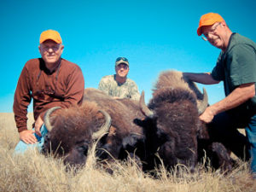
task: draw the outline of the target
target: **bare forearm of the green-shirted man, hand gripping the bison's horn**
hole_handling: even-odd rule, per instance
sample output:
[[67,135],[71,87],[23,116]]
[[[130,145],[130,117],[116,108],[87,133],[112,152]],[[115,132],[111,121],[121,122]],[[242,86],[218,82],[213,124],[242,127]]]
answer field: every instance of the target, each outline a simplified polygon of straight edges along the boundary
[[235,90],[233,90],[229,96],[226,96],[223,100],[216,102],[212,106],[209,106],[204,113],[201,114],[200,119],[206,123],[210,123],[213,117],[221,112],[236,108],[247,100],[255,96],[255,83],[241,84]]

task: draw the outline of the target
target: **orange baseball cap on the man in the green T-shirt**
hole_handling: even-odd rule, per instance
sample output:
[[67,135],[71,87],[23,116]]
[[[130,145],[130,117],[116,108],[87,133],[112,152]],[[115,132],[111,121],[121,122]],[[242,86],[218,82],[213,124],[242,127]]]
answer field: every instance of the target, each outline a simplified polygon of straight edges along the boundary
[[198,36],[201,36],[201,27],[202,26],[212,26],[216,22],[222,22],[224,19],[215,13],[208,13],[206,15],[202,15],[199,20],[199,26],[197,28]]

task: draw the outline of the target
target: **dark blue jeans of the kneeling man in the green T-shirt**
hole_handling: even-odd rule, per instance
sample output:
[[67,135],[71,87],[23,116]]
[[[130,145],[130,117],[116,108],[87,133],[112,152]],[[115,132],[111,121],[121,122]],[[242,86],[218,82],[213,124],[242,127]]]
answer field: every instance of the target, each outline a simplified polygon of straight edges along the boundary
[[[251,159],[251,171],[256,176],[256,114],[219,113],[209,126],[212,140],[224,143],[242,160]],[[237,128],[245,128],[246,137]]]

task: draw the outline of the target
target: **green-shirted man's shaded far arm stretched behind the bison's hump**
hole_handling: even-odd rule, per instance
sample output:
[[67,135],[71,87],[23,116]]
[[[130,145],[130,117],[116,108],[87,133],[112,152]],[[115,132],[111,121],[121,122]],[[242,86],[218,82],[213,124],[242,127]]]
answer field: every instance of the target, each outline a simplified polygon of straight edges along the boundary
[[219,81],[212,78],[211,73],[183,73],[184,79],[189,79],[200,84],[218,84]]

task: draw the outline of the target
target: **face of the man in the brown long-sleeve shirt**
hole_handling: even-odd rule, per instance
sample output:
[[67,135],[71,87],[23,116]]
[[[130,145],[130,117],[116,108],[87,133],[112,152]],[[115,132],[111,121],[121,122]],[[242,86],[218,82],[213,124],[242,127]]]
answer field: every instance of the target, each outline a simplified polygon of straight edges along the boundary
[[54,64],[61,57],[64,46],[55,41],[46,40],[40,44],[39,51],[45,63]]

